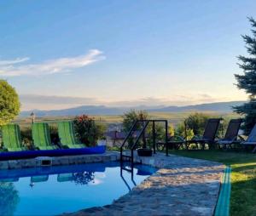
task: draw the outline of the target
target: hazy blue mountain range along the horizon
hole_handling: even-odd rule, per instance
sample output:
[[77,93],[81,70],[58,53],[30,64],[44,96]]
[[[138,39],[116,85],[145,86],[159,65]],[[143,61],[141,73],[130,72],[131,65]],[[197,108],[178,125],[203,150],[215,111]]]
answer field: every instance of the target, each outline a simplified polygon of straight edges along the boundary
[[[201,105],[185,105],[185,106],[166,106],[159,108],[150,108],[148,106],[137,107],[109,107],[105,105],[81,105],[64,110],[52,110],[52,111],[39,111],[33,112],[37,117],[55,117],[55,116],[78,116],[82,114],[87,115],[122,115],[125,111],[131,109],[146,110],[146,111],[158,111],[158,112],[181,112],[181,111],[217,111],[217,112],[230,112],[232,106],[241,105],[245,101],[231,101],[231,102],[218,102],[211,104]],[[21,111],[20,117],[29,117],[32,111]]]

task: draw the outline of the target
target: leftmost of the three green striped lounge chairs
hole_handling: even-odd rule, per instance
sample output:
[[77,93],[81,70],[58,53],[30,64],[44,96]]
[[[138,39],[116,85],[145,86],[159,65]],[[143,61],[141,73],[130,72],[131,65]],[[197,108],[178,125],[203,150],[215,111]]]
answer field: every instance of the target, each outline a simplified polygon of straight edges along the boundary
[[3,148],[6,151],[26,151],[20,137],[20,127],[17,124],[7,124],[2,127]]

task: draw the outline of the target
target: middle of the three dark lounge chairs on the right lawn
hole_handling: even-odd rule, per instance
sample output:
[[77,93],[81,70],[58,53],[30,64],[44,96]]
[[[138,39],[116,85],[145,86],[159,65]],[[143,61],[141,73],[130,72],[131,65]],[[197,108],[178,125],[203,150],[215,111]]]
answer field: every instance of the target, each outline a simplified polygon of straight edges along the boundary
[[224,149],[226,149],[227,146],[230,146],[230,148],[232,148],[232,145],[241,143],[241,141],[239,140],[240,137],[238,136],[241,122],[241,118],[230,120],[227,131],[224,135],[224,139],[219,139],[217,142],[219,147],[223,146]]

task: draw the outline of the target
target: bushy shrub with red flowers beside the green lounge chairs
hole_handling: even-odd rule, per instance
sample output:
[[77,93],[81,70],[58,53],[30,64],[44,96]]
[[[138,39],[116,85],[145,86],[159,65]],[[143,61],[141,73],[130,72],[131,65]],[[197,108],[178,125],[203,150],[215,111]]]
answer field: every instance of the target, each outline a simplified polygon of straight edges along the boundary
[[96,141],[102,139],[106,131],[105,125],[86,115],[75,117],[74,127],[78,139],[85,145],[96,145]]

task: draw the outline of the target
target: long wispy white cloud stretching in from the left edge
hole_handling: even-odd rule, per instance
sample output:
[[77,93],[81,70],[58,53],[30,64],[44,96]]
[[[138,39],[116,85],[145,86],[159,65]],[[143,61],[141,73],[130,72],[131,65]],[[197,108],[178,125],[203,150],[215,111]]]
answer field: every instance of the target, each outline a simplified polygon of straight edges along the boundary
[[15,60],[0,61],[0,76],[18,77],[18,76],[39,76],[54,73],[63,73],[75,68],[82,68],[99,60],[104,60],[105,56],[98,49],[91,49],[87,54],[76,57],[60,58],[55,60],[46,60],[40,64],[15,65],[17,63],[29,60],[18,58]]

